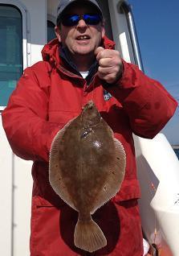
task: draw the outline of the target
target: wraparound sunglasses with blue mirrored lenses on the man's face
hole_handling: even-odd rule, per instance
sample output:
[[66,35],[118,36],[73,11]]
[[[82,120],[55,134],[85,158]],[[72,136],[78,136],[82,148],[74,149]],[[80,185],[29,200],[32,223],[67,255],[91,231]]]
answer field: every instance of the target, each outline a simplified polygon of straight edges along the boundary
[[59,20],[66,27],[73,27],[79,23],[79,20],[83,19],[87,25],[97,25],[102,21],[100,14],[65,14]]

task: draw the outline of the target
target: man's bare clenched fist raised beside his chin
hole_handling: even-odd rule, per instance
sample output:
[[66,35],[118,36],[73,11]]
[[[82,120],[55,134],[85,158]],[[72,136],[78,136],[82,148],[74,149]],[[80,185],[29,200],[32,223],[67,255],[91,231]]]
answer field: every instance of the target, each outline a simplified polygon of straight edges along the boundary
[[96,60],[99,61],[98,76],[108,84],[116,83],[123,72],[120,52],[116,50],[96,48]]

